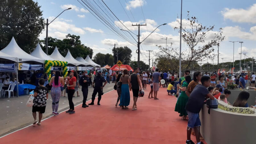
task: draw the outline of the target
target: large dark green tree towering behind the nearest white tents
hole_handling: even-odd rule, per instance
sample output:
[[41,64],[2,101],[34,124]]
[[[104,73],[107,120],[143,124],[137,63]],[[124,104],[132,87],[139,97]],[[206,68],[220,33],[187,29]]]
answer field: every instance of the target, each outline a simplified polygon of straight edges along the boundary
[[33,51],[38,36],[44,30],[41,6],[33,0],[2,0],[0,4],[0,50],[14,36],[17,44],[27,53]]

